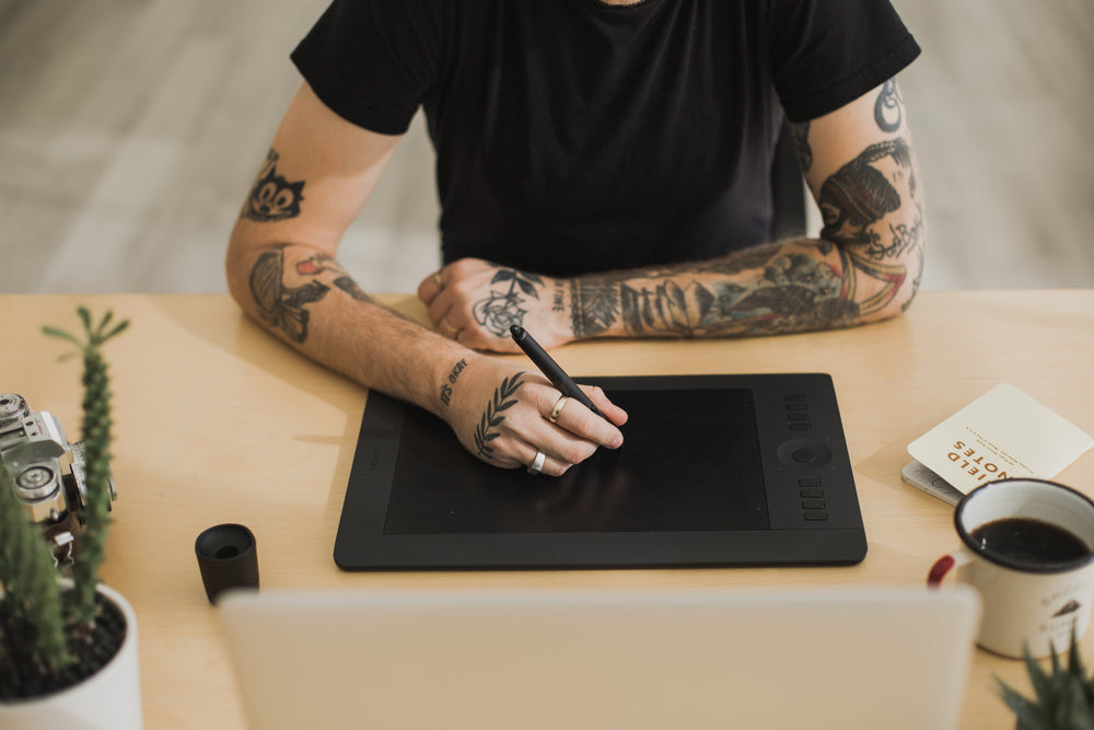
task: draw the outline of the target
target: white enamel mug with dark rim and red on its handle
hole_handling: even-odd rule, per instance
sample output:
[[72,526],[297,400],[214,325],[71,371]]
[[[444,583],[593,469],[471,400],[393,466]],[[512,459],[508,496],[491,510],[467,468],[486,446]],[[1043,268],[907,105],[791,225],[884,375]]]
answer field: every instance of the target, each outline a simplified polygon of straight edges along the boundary
[[[1055,525],[1086,549],[1066,560],[1043,561],[973,536],[978,528],[1008,519]],[[958,582],[977,590],[984,604],[980,647],[1021,658],[1028,646],[1032,656],[1047,657],[1052,647],[1067,650],[1072,629],[1076,637],[1086,631],[1094,600],[1094,501],[1054,482],[1001,479],[965,495],[954,525],[964,547],[939,558],[927,583],[939,586],[956,567]]]

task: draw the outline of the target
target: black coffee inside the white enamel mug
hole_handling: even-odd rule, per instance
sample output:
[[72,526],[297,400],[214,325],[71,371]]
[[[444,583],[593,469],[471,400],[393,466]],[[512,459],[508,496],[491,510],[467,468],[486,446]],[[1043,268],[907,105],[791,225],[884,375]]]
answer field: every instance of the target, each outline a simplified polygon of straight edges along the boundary
[[1033,568],[1074,563],[1092,553],[1063,528],[1029,518],[992,520],[970,536],[985,551]]

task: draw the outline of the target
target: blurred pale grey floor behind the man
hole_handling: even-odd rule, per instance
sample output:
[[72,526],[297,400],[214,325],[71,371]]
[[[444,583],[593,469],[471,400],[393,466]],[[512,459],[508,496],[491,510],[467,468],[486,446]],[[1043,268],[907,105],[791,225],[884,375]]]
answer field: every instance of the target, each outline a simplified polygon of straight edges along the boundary
[[[928,194],[923,287],[1094,286],[1094,0],[894,0]],[[224,291],[240,205],[326,0],[0,0],[0,291]],[[420,120],[339,258],[438,263]]]

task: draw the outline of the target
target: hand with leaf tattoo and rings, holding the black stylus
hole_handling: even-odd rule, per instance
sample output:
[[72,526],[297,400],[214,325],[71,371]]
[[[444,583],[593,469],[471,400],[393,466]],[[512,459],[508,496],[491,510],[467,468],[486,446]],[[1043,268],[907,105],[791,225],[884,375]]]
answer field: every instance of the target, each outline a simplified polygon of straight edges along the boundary
[[501,358],[469,354],[454,362],[441,384],[441,416],[459,442],[482,461],[502,468],[527,467],[537,452],[543,473],[561,476],[598,448],[618,449],[617,428],[627,413],[598,387],[583,386],[610,422],[567,398],[549,420],[561,393],[535,370]]

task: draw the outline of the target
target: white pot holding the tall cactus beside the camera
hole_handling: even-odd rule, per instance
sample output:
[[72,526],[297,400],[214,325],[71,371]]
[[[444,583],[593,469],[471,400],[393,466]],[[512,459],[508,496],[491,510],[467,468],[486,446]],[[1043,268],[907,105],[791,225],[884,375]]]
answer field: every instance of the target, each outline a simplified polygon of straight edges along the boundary
[[3,730],[140,730],[140,663],[137,614],[120,593],[100,583],[98,592],[121,611],[126,636],[118,653],[82,682],[50,695],[0,702]]

